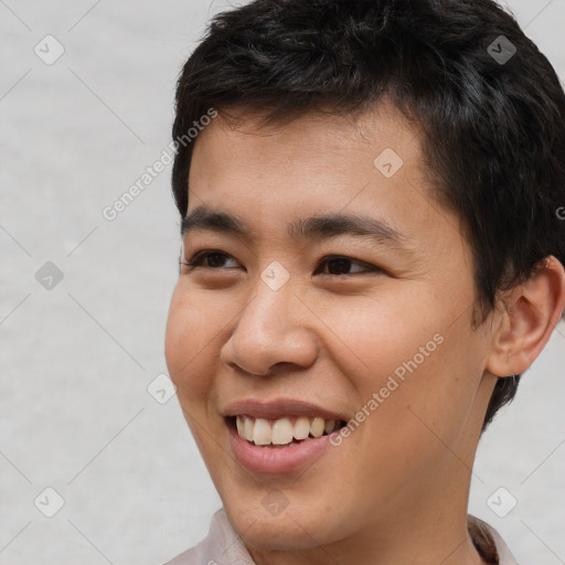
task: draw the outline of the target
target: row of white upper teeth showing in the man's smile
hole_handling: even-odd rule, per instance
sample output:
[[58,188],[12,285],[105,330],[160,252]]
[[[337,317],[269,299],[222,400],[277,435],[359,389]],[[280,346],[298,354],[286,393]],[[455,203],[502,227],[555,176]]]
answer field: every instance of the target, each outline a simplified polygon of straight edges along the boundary
[[237,416],[235,423],[237,434],[247,441],[253,441],[257,446],[282,446],[290,444],[292,439],[306,439],[309,435],[320,437],[323,433],[330,434],[335,428],[337,420],[300,416],[292,424],[290,418],[269,422],[265,418]]

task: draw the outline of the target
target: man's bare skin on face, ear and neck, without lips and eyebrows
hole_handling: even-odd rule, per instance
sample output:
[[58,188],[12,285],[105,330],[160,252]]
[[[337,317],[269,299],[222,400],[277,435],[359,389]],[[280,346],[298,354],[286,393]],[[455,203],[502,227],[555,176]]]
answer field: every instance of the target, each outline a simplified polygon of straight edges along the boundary
[[[430,198],[418,130],[387,103],[354,119],[307,114],[259,128],[259,117],[247,113],[235,129],[216,118],[196,140],[189,211],[236,214],[257,239],[200,228],[184,237],[184,262],[202,249],[226,257],[182,266],[166,337],[227,516],[259,565],[482,563],[467,505],[494,375],[522,373],[545,345],[565,305],[563,266],[550,258],[472,330],[469,244]],[[385,148],[404,161],[392,178],[373,164]],[[288,237],[287,223],[326,212],[385,218],[408,250]],[[352,274],[328,255],[350,258]],[[274,260],[290,275],[276,291],[260,278]],[[234,457],[221,415],[230,402],[301,398],[354,417],[435,334],[436,351],[306,471],[252,473]],[[262,503],[274,489],[288,500],[276,516]]]

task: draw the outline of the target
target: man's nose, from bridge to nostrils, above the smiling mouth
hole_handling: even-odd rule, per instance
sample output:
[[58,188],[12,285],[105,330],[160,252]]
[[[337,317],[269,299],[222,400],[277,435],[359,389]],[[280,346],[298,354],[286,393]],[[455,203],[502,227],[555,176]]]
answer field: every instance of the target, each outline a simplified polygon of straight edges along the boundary
[[232,369],[262,376],[282,364],[311,365],[318,355],[308,324],[313,313],[295,296],[290,281],[273,290],[259,278],[255,290],[236,318],[220,359]]

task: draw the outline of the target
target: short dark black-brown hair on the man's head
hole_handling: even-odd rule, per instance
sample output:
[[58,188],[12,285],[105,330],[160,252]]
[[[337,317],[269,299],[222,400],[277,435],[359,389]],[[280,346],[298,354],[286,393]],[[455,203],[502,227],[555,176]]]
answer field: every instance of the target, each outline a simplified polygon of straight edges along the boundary
[[[510,44],[515,53],[497,60]],[[262,110],[270,122],[370,111],[385,97],[419,126],[431,196],[461,218],[476,329],[500,290],[550,255],[565,264],[565,94],[494,1],[254,0],[220,13],[180,74],[172,136],[186,137],[210,108]],[[193,145],[179,145],[173,163],[181,217]],[[482,430],[520,377],[499,377]]]

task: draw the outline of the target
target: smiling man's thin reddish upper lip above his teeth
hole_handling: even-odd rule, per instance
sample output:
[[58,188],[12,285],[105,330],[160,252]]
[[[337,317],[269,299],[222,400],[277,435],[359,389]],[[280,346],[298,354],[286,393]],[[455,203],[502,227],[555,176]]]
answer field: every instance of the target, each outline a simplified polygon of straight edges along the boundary
[[296,398],[258,399],[242,398],[230,403],[223,411],[225,417],[252,416],[254,418],[278,419],[289,416],[309,416],[323,419],[342,419],[348,417],[343,414],[322,408],[317,404],[299,401]]

